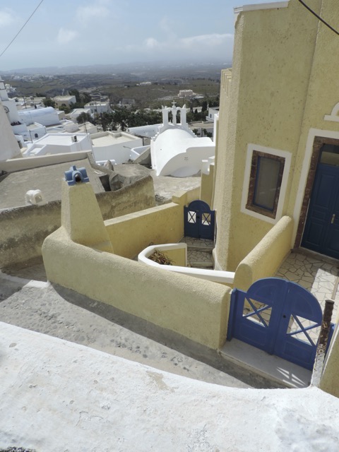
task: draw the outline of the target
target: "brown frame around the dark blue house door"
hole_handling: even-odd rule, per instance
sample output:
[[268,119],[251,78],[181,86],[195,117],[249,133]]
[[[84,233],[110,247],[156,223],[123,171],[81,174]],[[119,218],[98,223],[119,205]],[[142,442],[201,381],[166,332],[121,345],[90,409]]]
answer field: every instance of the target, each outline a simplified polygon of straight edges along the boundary
[[300,210],[299,222],[297,227],[297,234],[295,237],[295,248],[299,248],[302,243],[302,236],[307,220],[307,211],[309,209],[309,201],[311,200],[311,193],[316,178],[316,169],[318,167],[320,150],[324,144],[338,145],[339,138],[328,138],[326,136],[314,136],[313,150],[311,155],[311,162],[309,165],[309,174],[307,175],[307,182],[304,189],[304,198],[302,200],[302,208]]

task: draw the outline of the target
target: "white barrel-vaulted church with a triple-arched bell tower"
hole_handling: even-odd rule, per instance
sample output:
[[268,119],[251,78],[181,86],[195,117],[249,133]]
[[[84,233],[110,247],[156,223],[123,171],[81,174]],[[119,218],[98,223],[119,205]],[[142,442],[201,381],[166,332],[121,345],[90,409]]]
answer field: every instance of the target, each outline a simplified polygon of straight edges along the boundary
[[[169,112],[172,112],[172,123],[169,123]],[[201,171],[202,160],[215,155],[215,143],[208,137],[198,138],[189,129],[185,105],[162,107],[162,126],[150,141],[150,155],[157,176],[188,177]]]

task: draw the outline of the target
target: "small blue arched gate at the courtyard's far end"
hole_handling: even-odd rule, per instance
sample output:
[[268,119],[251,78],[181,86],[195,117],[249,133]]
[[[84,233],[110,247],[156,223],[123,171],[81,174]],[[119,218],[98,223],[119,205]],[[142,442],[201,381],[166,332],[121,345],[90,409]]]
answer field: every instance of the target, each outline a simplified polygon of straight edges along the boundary
[[192,201],[184,208],[184,235],[198,239],[214,239],[215,211],[204,201]]

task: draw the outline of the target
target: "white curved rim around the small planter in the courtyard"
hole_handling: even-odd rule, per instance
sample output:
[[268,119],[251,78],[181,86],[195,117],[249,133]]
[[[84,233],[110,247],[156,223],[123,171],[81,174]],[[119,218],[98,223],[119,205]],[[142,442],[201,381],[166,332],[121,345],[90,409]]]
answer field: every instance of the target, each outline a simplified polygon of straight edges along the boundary
[[148,266],[161,268],[162,270],[174,271],[176,273],[182,273],[188,276],[194,276],[194,278],[201,278],[203,280],[213,281],[214,283],[233,284],[234,272],[222,271],[222,270],[207,270],[206,268],[191,268],[180,266],[167,266],[152,261],[148,257],[154,253],[155,250],[167,251],[175,249],[185,249],[185,265],[187,265],[187,244],[186,243],[171,243],[161,245],[151,245],[145,248],[138,254],[138,262],[145,263]]

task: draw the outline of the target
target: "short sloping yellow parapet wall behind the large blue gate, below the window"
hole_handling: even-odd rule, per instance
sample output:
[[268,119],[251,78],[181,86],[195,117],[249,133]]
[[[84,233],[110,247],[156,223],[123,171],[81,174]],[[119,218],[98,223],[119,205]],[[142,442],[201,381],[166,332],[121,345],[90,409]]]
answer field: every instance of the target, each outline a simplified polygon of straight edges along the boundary
[[235,271],[234,287],[247,290],[254,281],[274,276],[290,253],[292,232],[292,218],[281,218],[239,263]]

